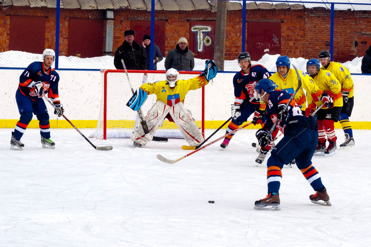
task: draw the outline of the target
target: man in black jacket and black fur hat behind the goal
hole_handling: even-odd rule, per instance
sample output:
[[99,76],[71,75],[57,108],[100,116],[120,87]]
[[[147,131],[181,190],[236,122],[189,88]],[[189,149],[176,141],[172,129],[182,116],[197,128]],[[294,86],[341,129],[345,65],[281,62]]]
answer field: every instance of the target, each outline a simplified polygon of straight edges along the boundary
[[125,41],[115,52],[114,65],[116,69],[124,69],[121,59],[127,69],[145,69],[145,55],[142,47],[134,41],[134,30],[124,32]]

